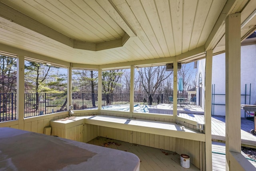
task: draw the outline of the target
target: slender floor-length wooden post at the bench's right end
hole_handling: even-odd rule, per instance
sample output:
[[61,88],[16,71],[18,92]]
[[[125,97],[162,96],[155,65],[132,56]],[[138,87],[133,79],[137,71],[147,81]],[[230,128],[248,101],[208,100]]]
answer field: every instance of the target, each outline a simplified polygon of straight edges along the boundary
[[212,170],[212,50],[206,51],[205,69],[205,160],[206,170]]

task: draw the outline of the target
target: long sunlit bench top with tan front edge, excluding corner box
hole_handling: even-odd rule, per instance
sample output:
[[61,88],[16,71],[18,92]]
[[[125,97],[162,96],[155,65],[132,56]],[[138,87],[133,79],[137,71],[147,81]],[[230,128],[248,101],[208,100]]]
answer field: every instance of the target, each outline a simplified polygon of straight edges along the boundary
[[205,134],[188,127],[185,127],[185,131],[182,131],[182,125],[172,122],[142,120],[106,115],[82,117],[85,119],[86,124],[205,142]]

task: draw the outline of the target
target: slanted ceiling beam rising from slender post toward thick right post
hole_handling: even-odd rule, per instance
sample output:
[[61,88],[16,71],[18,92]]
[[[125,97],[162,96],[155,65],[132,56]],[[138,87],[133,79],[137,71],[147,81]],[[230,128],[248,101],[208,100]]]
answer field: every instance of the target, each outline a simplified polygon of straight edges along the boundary
[[235,8],[239,7],[238,3],[242,3],[242,2],[239,0],[227,0],[222,12],[220,13],[220,16],[217,22],[214,25],[214,28],[212,29],[208,39],[206,40],[206,43],[205,43],[206,51],[214,49],[214,47],[220,41],[221,37],[223,37],[226,18],[232,12],[234,12]]

